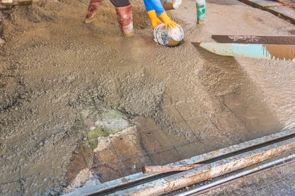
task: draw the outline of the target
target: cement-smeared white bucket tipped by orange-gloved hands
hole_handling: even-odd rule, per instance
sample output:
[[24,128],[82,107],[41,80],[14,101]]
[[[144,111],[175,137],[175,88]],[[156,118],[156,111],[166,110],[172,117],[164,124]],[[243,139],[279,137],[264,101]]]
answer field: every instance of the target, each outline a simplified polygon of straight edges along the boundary
[[180,25],[172,29],[167,27],[167,30],[165,30],[165,24],[161,24],[157,25],[154,29],[155,41],[165,47],[176,47],[183,37],[184,32]]

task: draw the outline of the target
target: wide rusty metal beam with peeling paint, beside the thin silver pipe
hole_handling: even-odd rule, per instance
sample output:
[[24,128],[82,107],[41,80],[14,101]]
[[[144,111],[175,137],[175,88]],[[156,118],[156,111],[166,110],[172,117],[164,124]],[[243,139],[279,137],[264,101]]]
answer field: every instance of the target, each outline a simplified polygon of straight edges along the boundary
[[244,152],[186,172],[154,180],[109,196],[159,196],[211,178],[234,172],[295,150],[295,138]]

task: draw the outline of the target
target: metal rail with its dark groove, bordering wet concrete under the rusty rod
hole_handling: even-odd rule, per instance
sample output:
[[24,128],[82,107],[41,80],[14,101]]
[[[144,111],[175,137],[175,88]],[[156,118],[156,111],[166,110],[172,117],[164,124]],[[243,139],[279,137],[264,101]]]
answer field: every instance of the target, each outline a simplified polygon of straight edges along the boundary
[[[221,160],[225,157],[233,156],[235,154],[239,154],[245,151],[249,151],[253,148],[258,148],[265,146],[266,144],[278,142],[281,140],[285,140],[290,137],[295,136],[294,129],[283,130],[279,133],[271,134],[269,136],[265,136],[262,138],[258,138],[255,140],[251,140],[245,143],[241,143],[238,145],[234,145],[231,147],[226,147],[218,150],[214,150],[212,152],[208,152],[199,156],[195,156],[189,159],[181,160],[176,163],[172,163],[169,165],[179,165],[179,164],[196,164],[196,163],[212,163],[217,160]],[[114,193],[118,190],[127,189],[130,187],[137,186],[139,184],[146,183],[148,181],[153,181],[158,178],[167,177],[169,175],[173,175],[175,173],[168,174],[157,174],[157,173],[136,173],[133,175],[129,175],[123,178],[119,178],[113,181],[109,181],[103,184],[99,184],[97,186],[89,187],[87,189],[82,189],[79,191],[75,191],[65,196],[82,196],[82,195],[107,195]]]

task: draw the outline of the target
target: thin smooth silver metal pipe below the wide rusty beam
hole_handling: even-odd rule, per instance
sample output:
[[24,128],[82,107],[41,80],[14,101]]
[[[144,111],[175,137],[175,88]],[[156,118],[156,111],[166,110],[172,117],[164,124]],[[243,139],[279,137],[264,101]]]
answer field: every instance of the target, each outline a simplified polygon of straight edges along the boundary
[[205,189],[208,189],[208,188],[211,188],[211,187],[217,186],[217,185],[219,185],[219,184],[222,184],[222,183],[228,182],[228,181],[233,180],[233,179],[236,179],[236,178],[238,178],[238,177],[242,177],[242,176],[247,175],[247,174],[249,174],[249,173],[253,173],[253,172],[259,171],[259,170],[261,170],[261,169],[265,169],[265,168],[267,168],[267,167],[269,167],[269,166],[272,166],[272,165],[275,165],[275,164],[277,164],[277,163],[280,163],[280,162],[286,161],[286,160],[288,160],[288,159],[293,159],[293,158],[295,158],[295,153],[294,153],[294,154],[291,154],[291,155],[289,155],[289,156],[287,156],[287,157],[283,157],[283,158],[281,158],[281,159],[278,159],[278,160],[271,161],[271,162],[269,162],[269,163],[263,164],[263,165],[258,166],[258,167],[256,167],[256,168],[253,168],[253,169],[251,169],[251,170],[246,170],[246,171],[244,171],[244,172],[240,172],[240,173],[237,173],[237,174],[235,174],[235,175],[231,175],[231,176],[226,177],[226,178],[224,178],[224,179],[217,180],[217,181],[212,182],[212,183],[210,183],[210,184],[206,184],[206,185],[204,185],[204,186],[202,186],[202,187],[198,187],[198,188],[196,188],[196,189],[193,189],[193,190],[190,190],[190,191],[188,191],[188,192],[185,192],[185,193],[179,194],[179,195],[177,195],[177,196],[189,196],[189,195],[191,195],[191,194],[194,194],[194,193],[197,193],[197,192],[203,191],[203,190],[205,190]]

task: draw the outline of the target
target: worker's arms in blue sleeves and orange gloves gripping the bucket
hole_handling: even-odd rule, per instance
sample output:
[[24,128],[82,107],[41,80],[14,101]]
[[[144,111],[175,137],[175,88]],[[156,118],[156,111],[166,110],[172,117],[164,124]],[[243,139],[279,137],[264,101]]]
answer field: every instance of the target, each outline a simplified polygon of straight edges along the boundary
[[167,26],[169,26],[170,29],[172,27],[177,26],[177,24],[172,21],[169,16],[167,15],[162,3],[160,0],[144,0],[148,16],[151,20],[151,24],[153,27],[156,27],[157,25],[160,25],[162,22],[157,18],[156,13],[160,16],[160,18],[165,23],[165,28],[167,29]]

